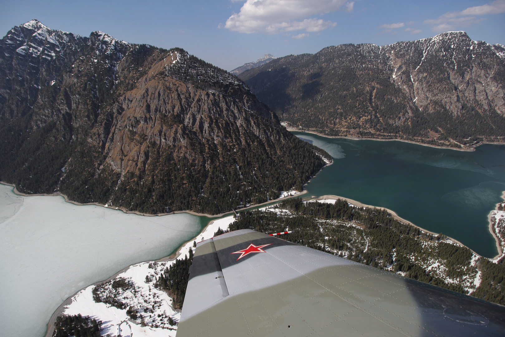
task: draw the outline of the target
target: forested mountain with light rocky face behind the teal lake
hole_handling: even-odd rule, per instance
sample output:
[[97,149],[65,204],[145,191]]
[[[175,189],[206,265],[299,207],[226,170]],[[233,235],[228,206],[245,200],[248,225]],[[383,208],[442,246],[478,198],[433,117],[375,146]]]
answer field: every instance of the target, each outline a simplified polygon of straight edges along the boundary
[[505,140],[505,47],[465,32],[329,46],[240,78],[281,120],[328,135],[442,146]]

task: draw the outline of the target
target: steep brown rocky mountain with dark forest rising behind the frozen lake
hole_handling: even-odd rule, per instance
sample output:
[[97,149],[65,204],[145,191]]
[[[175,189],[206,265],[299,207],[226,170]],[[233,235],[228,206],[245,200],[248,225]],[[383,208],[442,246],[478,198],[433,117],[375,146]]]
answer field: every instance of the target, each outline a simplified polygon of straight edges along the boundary
[[0,42],[0,179],[22,192],[219,213],[301,189],[321,155],[241,80],[182,49],[37,20]]

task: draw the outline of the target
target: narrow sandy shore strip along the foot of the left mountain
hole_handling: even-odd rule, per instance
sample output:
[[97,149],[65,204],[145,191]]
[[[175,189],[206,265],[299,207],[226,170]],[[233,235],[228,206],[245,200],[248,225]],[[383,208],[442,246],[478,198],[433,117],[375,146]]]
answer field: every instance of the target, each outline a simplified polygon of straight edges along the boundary
[[133,214],[143,215],[143,216],[164,216],[164,215],[170,215],[170,214],[188,213],[188,214],[197,215],[197,216],[206,216],[208,218],[220,218],[220,217],[225,216],[225,215],[234,214],[235,211],[240,211],[241,212],[241,211],[245,211],[245,210],[248,210],[248,209],[251,209],[251,208],[256,208],[256,207],[259,207],[259,206],[267,205],[267,204],[270,204],[270,203],[276,203],[278,201],[282,201],[282,200],[285,200],[285,199],[289,199],[289,198],[293,198],[293,197],[298,197],[298,196],[301,196],[301,195],[304,195],[304,194],[307,193],[306,190],[303,190],[301,192],[297,192],[296,191],[293,194],[289,194],[290,191],[287,191],[287,192],[284,192],[287,195],[285,195],[284,197],[278,198],[278,199],[272,199],[272,200],[266,201],[266,202],[261,203],[261,204],[249,205],[247,207],[237,208],[235,211],[229,211],[229,212],[219,213],[219,214],[214,214],[214,215],[205,214],[205,213],[196,213],[196,212],[193,212],[193,211],[174,211],[174,212],[170,212],[170,213],[149,214],[149,213],[141,213],[141,212],[137,212],[137,211],[129,211],[129,210],[127,210],[125,208],[122,208],[122,207],[113,207],[113,206],[108,206],[108,205],[98,204],[98,203],[85,203],[85,204],[81,204],[81,203],[78,203],[76,201],[72,201],[72,200],[68,199],[68,197],[66,195],[64,195],[63,193],[60,193],[60,192],[56,192],[56,193],[52,193],[52,194],[46,194],[46,193],[24,194],[24,193],[18,191],[16,189],[16,185],[14,185],[14,184],[11,184],[11,183],[8,183],[8,182],[5,182],[5,181],[0,181],[0,184],[14,187],[14,194],[16,194],[18,196],[22,196],[22,197],[32,197],[32,196],[55,197],[55,196],[61,196],[61,197],[63,197],[65,199],[65,201],[67,203],[71,203],[71,204],[74,204],[74,205],[77,205],[77,206],[96,205],[96,206],[107,207],[107,208],[110,208],[110,209],[113,209],[113,210],[123,211],[123,213],[133,213]]

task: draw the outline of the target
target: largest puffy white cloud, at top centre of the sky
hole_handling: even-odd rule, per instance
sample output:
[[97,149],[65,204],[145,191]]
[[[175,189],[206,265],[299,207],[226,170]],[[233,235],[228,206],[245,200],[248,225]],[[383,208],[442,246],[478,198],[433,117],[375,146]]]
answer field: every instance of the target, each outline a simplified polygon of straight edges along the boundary
[[226,20],[224,27],[240,33],[319,32],[336,23],[310,17],[340,9],[350,12],[353,8],[354,2],[346,0],[247,0],[238,14],[233,13]]

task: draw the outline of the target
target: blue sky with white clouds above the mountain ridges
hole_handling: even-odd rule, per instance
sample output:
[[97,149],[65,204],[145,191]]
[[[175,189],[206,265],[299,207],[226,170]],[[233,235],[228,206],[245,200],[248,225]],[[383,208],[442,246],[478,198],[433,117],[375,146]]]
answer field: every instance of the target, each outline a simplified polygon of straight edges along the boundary
[[182,47],[228,71],[265,54],[453,30],[505,44],[505,0],[0,0],[2,36],[31,19],[83,36],[101,30],[126,42]]

